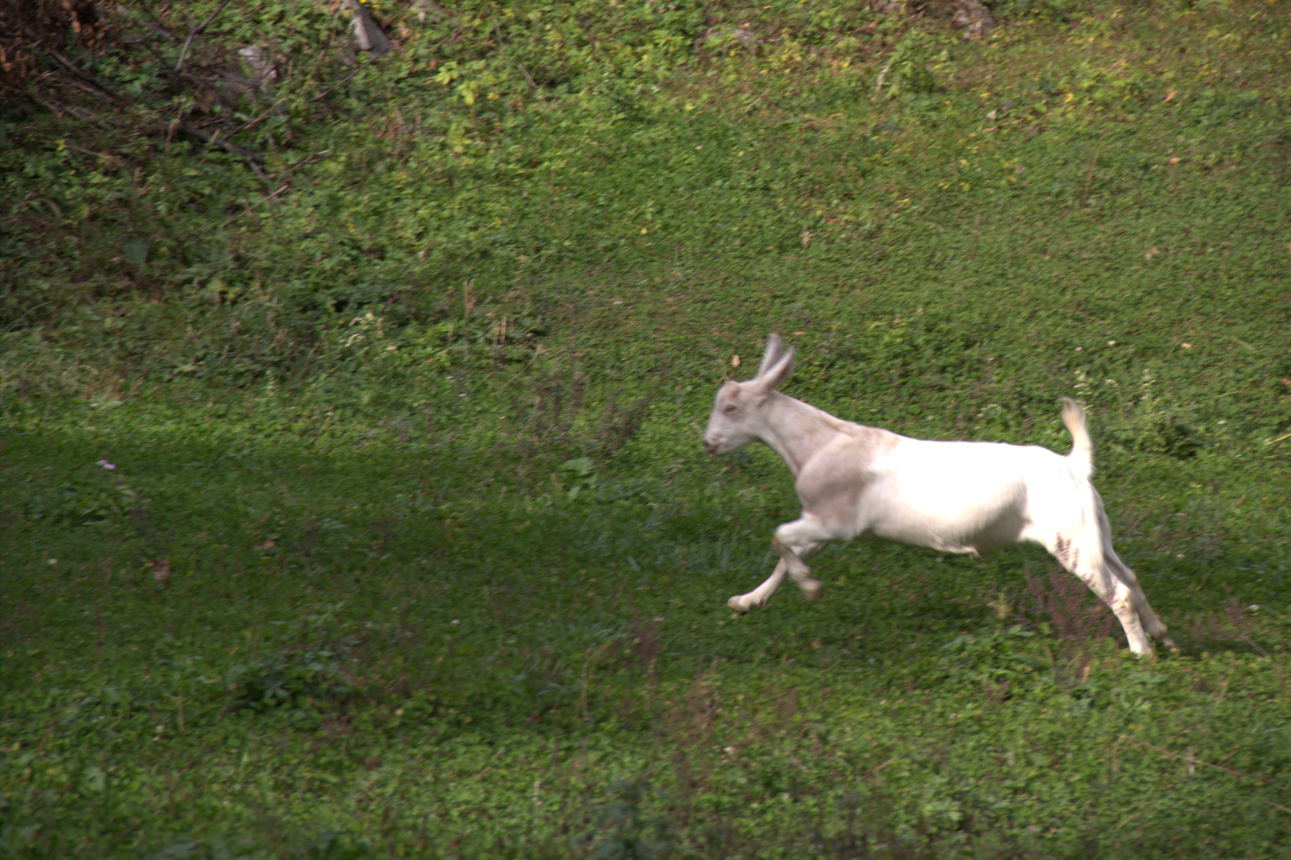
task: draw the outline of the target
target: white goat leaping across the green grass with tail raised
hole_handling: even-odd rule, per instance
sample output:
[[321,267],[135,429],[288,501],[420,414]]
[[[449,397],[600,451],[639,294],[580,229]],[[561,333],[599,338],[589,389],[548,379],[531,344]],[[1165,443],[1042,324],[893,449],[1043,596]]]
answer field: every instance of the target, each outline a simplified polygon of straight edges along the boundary
[[775,532],[776,569],[753,591],[732,597],[732,609],[766,604],[785,573],[816,599],[821,585],[804,559],[830,540],[874,535],[971,555],[1034,541],[1112,608],[1131,651],[1152,655],[1144,628],[1175,647],[1112,549],[1103,500],[1090,482],[1084,411],[1074,400],[1062,407],[1073,440],[1065,457],[1038,445],[928,442],[842,421],[778,393],[793,365],[794,351],[772,334],[758,374],[718,390],[704,434],[713,455],[754,439],[771,445],[794,474],[803,509]]

